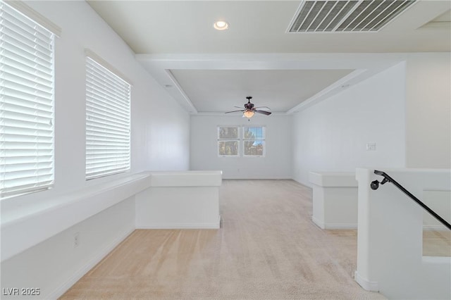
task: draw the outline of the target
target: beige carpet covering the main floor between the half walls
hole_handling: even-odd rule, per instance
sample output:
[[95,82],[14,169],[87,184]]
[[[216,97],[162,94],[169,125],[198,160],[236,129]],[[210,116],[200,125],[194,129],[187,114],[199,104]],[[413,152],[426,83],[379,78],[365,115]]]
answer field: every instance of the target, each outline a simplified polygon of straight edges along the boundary
[[355,230],[311,222],[311,189],[224,180],[220,230],[136,230],[61,299],[385,299],[354,282]]

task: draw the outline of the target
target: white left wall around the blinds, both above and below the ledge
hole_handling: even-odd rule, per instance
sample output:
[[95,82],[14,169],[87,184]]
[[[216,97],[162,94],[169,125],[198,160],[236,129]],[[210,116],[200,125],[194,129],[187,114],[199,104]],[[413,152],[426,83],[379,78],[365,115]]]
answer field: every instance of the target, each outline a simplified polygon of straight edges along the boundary
[[[85,1],[27,4],[62,29],[61,37],[55,41],[55,185],[48,191],[2,200],[1,215],[31,206],[39,209],[61,195],[83,193],[86,187],[142,170],[187,170],[190,115],[135,61],[129,47],[104,20]],[[88,182],[85,181],[85,49],[94,51],[132,82],[131,171]],[[3,261],[1,286],[39,287],[42,293],[38,298],[49,299],[57,286],[68,280],[67,276],[78,274],[83,265],[101,258],[99,254],[104,254],[105,247],[116,244],[134,228],[134,199],[123,200]],[[73,248],[74,230],[80,232],[82,243],[77,249]],[[1,247],[5,249],[8,244]]]

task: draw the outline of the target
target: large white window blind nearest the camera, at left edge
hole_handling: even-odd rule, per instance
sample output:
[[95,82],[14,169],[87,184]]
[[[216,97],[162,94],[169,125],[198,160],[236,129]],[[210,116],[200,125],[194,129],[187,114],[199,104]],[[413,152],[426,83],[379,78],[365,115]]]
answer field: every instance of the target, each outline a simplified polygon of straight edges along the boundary
[[0,198],[54,183],[54,34],[0,1]]

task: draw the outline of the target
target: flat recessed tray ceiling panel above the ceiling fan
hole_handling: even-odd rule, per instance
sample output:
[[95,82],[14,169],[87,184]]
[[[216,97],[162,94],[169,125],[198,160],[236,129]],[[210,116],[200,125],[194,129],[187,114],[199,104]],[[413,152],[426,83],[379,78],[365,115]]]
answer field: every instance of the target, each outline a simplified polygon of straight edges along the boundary
[[[252,96],[286,113],[353,70],[171,70],[199,113],[230,111]],[[233,104],[233,106],[231,105]]]

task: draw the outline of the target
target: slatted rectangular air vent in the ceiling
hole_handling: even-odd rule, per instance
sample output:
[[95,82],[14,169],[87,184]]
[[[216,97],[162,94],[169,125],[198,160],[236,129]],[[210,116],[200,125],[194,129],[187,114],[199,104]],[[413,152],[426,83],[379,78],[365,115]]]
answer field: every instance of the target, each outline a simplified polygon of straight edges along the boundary
[[416,0],[302,1],[289,32],[376,32]]

